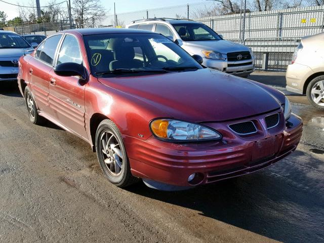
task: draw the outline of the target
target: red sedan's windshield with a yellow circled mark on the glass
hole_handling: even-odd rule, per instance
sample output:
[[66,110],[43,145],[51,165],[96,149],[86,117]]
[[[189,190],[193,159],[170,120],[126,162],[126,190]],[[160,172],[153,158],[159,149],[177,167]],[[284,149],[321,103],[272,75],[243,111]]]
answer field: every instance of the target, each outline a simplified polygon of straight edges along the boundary
[[115,33],[84,36],[91,72],[120,75],[202,68],[187,52],[160,34]]

